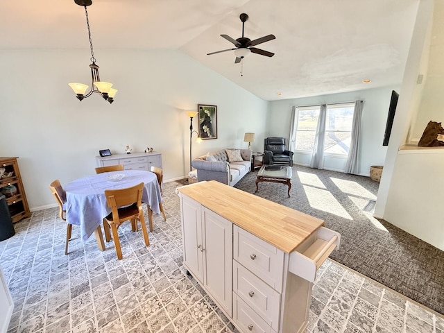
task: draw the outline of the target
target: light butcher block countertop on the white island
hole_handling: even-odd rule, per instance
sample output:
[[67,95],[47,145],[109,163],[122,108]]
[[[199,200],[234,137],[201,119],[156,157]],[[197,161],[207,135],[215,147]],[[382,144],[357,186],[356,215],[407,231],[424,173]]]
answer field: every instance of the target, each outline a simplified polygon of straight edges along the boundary
[[196,182],[177,189],[240,228],[291,253],[324,221],[221,182]]

